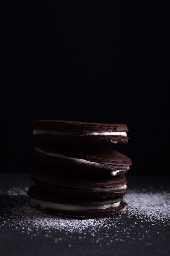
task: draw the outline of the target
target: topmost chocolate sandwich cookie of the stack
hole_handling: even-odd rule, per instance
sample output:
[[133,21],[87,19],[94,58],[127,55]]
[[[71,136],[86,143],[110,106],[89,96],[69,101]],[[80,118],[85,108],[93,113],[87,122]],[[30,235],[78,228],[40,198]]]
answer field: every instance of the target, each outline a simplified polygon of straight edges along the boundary
[[113,145],[128,143],[126,124],[100,124],[60,120],[33,121],[36,143],[67,145]]

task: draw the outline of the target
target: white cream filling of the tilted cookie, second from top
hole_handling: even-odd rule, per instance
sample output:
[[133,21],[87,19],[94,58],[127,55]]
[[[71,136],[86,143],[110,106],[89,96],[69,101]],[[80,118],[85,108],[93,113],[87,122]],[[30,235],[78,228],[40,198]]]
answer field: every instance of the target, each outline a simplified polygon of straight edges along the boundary
[[[98,166],[110,166],[110,167],[113,167],[113,168],[122,168],[122,169],[126,169],[126,170],[129,169],[129,166],[118,166],[118,165],[100,164],[100,163],[91,162],[91,161],[84,160],[84,159],[80,159],[80,158],[67,157],[66,155],[57,154],[57,153],[53,153],[53,152],[48,152],[48,151],[42,150],[42,149],[40,149],[39,147],[36,147],[35,150],[38,151],[38,152],[40,152],[40,153],[43,153],[43,154],[45,154],[45,155],[49,155],[49,156],[51,156],[51,157],[60,157],[60,158],[68,159],[68,160],[71,160],[71,161],[73,161],[73,162],[77,162],[77,163],[81,163],[81,164],[93,164],[93,165],[98,165]],[[122,171],[122,170],[113,171],[113,172],[111,172],[110,174],[111,174],[112,176],[115,176],[115,175],[116,175],[118,172],[120,172],[120,171]]]

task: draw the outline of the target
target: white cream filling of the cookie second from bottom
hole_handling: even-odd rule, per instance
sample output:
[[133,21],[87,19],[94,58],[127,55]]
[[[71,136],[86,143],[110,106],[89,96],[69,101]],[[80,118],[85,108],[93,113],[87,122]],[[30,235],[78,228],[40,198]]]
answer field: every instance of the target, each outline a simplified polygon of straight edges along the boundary
[[[35,177],[35,178],[42,182],[47,182],[46,180],[42,180],[37,177]],[[121,189],[127,188],[127,185],[111,187],[111,188],[104,188],[104,187],[92,187],[92,186],[70,186],[70,185],[63,185],[63,184],[59,184],[59,183],[55,183],[55,182],[49,182],[49,181],[47,183],[55,184],[55,185],[59,185],[59,186],[66,186],[66,187],[70,187],[73,189],[84,189],[84,190],[92,190],[92,191],[95,191],[95,190],[96,191],[111,191],[111,190],[121,190]]]

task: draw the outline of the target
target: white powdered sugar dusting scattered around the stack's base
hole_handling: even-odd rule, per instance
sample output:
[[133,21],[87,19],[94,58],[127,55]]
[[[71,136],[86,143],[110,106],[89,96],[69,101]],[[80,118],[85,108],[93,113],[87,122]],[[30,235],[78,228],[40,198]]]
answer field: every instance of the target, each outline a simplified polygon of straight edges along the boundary
[[[54,243],[60,243],[66,237],[72,241],[75,238],[83,240],[88,234],[92,238],[91,243],[98,243],[99,246],[102,246],[102,241],[109,245],[113,241],[131,243],[132,240],[142,241],[145,238],[148,245],[151,245],[151,231],[159,235],[155,227],[161,226],[163,230],[170,223],[168,191],[133,189],[124,198],[129,204],[125,212],[105,218],[72,219],[33,209],[26,195],[27,190],[28,187],[18,186],[0,191],[3,206],[0,210],[0,227],[21,230],[31,239],[41,234],[52,237]],[[136,226],[139,229],[137,235],[134,233]],[[55,232],[60,233],[60,237],[55,237]],[[69,243],[68,247],[71,246]]]

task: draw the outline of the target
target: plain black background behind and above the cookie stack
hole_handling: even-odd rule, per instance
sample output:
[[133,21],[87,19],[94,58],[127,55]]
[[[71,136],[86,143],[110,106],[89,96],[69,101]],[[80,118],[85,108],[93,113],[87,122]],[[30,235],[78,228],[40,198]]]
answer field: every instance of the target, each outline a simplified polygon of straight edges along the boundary
[[31,121],[128,125],[128,174],[169,174],[169,2],[2,4],[1,171],[27,172]]

